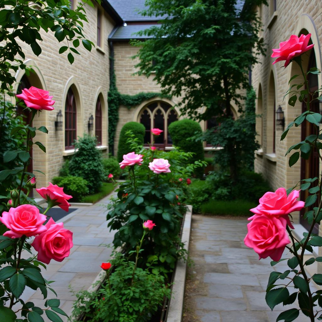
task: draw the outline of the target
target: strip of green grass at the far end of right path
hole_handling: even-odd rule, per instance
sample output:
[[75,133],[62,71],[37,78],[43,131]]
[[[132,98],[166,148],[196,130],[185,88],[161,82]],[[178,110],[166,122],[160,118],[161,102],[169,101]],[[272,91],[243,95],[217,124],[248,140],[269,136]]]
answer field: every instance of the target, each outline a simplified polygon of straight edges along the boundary
[[201,206],[201,213],[211,215],[251,216],[249,210],[256,207],[251,201],[246,200],[209,200]]

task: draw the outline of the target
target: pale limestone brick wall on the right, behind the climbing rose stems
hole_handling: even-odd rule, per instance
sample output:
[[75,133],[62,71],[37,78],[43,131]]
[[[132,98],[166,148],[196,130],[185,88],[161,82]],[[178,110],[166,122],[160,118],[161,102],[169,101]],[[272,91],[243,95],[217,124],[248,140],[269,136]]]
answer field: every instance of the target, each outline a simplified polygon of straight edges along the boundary
[[[280,141],[282,131],[276,131],[275,154],[273,154],[273,104],[275,100],[276,109],[280,105],[284,111],[285,127],[301,114],[300,103],[292,107],[288,105],[289,96],[283,100],[289,88],[290,77],[299,72],[295,63],[291,63],[287,68],[284,68],[284,62],[272,65],[275,59],[270,57],[271,49],[279,48],[280,42],[287,40],[291,34],[301,34],[301,31],[305,29],[312,33],[311,39],[315,44],[317,67],[321,68],[322,7],[310,0],[277,0],[275,12],[267,6],[263,6],[260,11],[263,15],[261,35],[266,44],[267,55],[261,56],[260,63],[253,66],[252,70],[252,85],[258,96],[256,108],[257,112],[262,114],[262,119],[257,118],[256,126],[260,133],[262,130],[262,151],[256,154],[255,171],[263,173],[274,189],[280,186],[289,188],[300,179],[300,161],[290,168],[289,157],[285,157],[285,153],[291,145],[301,141],[301,129],[293,127],[283,141]],[[306,68],[308,55],[304,55],[303,60],[304,68]],[[292,83],[301,81],[298,77]],[[321,86],[321,76],[319,76],[319,86]],[[274,117],[276,119],[276,116]]]

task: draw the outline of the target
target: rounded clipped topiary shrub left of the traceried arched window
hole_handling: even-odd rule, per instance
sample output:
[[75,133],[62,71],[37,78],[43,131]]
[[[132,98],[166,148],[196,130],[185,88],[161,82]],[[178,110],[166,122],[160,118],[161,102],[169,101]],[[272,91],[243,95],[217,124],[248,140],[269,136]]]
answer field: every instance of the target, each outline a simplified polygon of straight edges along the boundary
[[145,135],[145,127],[143,124],[138,122],[128,122],[123,125],[121,129],[120,137],[118,140],[118,162],[123,160],[123,155],[133,152],[129,144],[126,143],[128,140],[128,136],[126,132],[132,131],[134,136],[138,139],[137,144],[144,144],[144,135]]

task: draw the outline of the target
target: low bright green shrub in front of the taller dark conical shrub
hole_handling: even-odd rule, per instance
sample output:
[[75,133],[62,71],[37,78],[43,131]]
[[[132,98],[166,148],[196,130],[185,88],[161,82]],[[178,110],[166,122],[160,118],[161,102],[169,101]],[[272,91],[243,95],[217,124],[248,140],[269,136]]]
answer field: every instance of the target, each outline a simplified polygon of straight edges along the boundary
[[69,175],[67,177],[54,177],[52,184],[64,188],[65,194],[73,196],[71,201],[82,201],[84,195],[89,193],[87,181],[81,177]]

